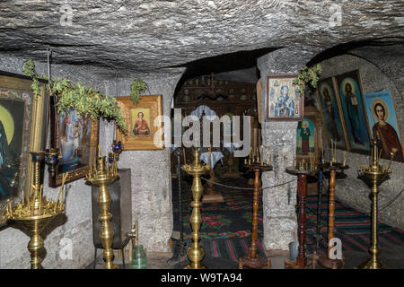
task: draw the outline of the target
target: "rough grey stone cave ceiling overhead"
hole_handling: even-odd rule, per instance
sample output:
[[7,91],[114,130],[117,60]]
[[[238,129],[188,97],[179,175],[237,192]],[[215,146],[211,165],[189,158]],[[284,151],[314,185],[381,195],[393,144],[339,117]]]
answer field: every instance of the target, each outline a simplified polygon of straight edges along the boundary
[[[148,72],[262,48],[404,41],[404,1],[13,0],[0,3],[0,52],[54,64]],[[72,25],[63,4],[72,8]],[[63,9],[62,9],[63,10]],[[198,61],[197,61],[198,62]]]

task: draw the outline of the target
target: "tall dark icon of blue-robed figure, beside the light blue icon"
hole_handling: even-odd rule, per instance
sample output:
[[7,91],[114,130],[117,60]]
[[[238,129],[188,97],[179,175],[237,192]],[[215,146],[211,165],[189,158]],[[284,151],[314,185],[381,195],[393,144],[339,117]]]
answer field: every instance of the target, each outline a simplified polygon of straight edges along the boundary
[[334,77],[335,91],[340,103],[348,148],[352,152],[370,153],[371,138],[364,114],[363,88],[359,71]]

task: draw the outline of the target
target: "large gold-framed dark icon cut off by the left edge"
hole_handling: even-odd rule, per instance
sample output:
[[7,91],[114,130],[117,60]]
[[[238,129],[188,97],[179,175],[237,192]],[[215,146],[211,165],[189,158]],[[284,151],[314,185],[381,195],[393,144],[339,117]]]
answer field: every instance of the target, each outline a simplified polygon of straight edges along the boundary
[[0,74],[0,224],[7,204],[25,195],[33,180],[30,152],[46,143],[48,95],[40,87],[35,99],[31,78]]

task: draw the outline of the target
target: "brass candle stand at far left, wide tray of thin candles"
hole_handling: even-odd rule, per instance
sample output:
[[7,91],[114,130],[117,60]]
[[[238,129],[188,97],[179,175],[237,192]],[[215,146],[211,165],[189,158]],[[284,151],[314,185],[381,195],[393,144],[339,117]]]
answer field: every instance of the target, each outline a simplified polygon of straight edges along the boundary
[[47,154],[42,151],[30,153],[34,166],[34,184],[29,189],[25,200],[22,196],[22,202],[17,203],[13,208],[10,203],[5,218],[20,223],[24,229],[28,230],[31,237],[28,243],[28,250],[31,253],[31,269],[42,269],[43,258],[40,257],[40,252],[45,245],[40,233],[58,214],[65,211],[63,199],[59,201],[59,197],[63,192],[67,174],[64,176],[57,201],[54,202],[52,199],[48,201],[45,196],[42,196],[43,186],[40,184],[43,161]]

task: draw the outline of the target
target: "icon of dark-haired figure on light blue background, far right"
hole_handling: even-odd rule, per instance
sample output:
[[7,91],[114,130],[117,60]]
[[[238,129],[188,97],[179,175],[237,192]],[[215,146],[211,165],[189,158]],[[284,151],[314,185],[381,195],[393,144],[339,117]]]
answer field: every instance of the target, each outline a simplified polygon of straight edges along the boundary
[[381,141],[382,158],[403,161],[403,145],[392,91],[364,93],[369,134]]

